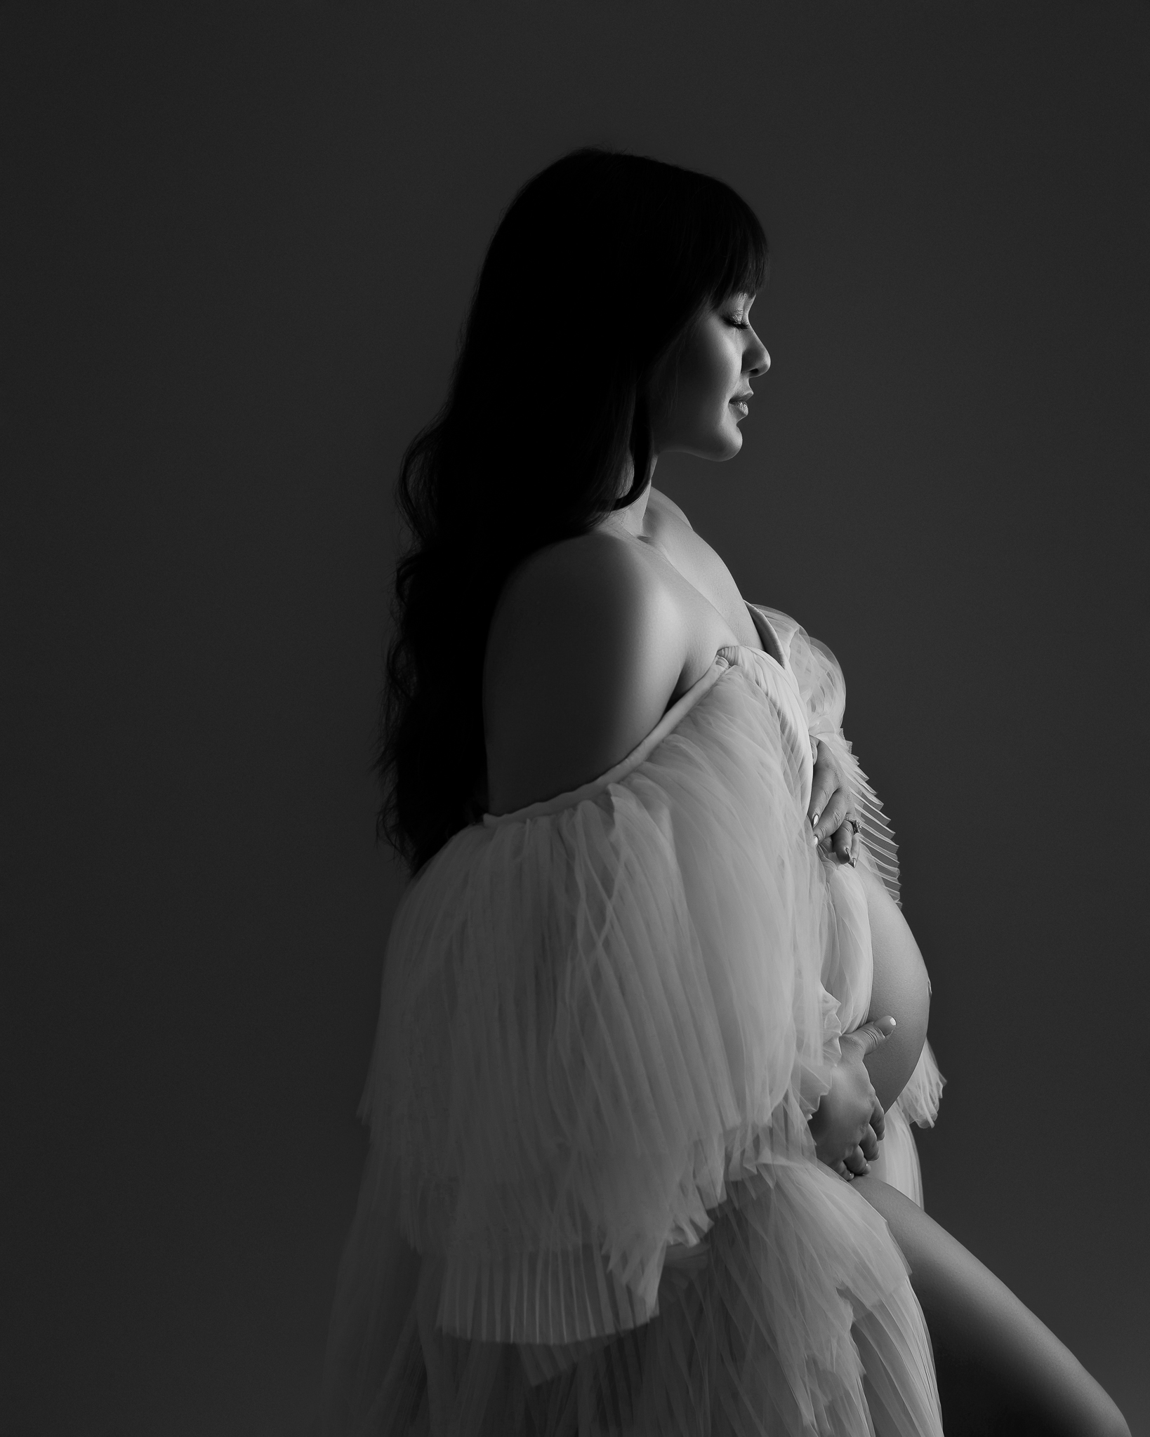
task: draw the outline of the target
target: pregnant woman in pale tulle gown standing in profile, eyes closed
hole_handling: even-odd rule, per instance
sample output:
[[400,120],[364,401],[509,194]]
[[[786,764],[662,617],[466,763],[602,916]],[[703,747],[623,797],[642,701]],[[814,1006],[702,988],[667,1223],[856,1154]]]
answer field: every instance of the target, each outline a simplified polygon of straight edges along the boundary
[[739,451],[765,264],[719,181],[565,157],[404,460],[332,1434],[1127,1434],[921,1209],[929,984],[838,664],[653,487]]

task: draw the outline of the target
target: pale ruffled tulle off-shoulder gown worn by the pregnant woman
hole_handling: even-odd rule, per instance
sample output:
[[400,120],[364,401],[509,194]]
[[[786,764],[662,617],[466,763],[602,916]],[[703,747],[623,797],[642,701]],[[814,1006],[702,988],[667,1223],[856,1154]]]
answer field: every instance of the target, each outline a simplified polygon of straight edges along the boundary
[[[614,769],[486,815],[404,894],[329,1433],[942,1433],[907,1265],[806,1124],[873,973],[858,875],[811,841],[811,734],[897,898],[894,844],[834,657],[748,608],[763,650],[720,650]],[[887,1118],[919,1201],[908,1119],[940,1088],[924,1049]]]

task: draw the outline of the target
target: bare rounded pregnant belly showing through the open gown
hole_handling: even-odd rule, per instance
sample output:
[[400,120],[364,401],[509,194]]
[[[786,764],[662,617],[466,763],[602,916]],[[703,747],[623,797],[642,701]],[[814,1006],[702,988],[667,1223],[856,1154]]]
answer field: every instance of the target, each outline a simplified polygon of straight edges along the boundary
[[865,1059],[878,1101],[888,1108],[914,1072],[926,1042],[930,980],[914,934],[883,887],[883,879],[862,865],[855,872],[867,894],[874,950],[874,986],[867,1017],[874,1020],[890,1013],[898,1025]]

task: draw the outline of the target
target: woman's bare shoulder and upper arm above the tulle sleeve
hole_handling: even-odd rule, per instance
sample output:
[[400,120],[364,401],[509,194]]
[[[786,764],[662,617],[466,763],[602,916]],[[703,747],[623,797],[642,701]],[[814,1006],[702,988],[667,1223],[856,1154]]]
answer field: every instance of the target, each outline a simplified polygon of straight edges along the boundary
[[684,662],[674,599],[637,545],[597,530],[532,555],[487,637],[490,812],[566,793],[624,759],[661,718]]

